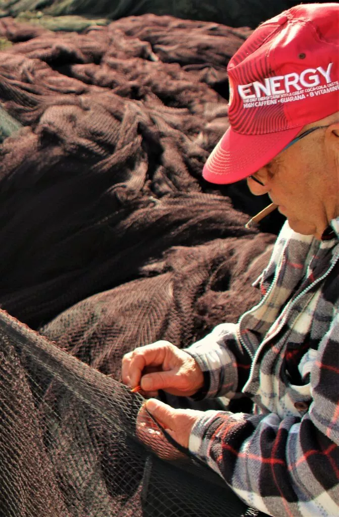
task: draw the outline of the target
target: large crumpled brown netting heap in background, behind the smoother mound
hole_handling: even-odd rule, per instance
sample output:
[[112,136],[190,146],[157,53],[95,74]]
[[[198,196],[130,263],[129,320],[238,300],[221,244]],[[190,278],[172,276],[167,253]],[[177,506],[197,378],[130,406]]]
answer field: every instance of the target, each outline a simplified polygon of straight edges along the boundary
[[67,35],[0,20],[0,99],[25,126],[0,147],[2,308],[38,328],[172,247],[257,233],[242,212],[266,202],[201,175],[246,34],[154,15]]

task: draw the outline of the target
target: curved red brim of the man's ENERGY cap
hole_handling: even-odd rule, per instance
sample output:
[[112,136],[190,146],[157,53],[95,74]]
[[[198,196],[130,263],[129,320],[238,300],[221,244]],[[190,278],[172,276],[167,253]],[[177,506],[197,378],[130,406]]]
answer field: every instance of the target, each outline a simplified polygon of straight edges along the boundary
[[202,175],[218,185],[247,178],[278,155],[301,129],[246,135],[229,127],[205,163]]

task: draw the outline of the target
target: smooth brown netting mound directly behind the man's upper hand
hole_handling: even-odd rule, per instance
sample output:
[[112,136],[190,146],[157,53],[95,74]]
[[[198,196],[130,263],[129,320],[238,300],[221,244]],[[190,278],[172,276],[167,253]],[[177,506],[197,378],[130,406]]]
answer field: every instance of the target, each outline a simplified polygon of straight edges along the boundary
[[272,242],[259,234],[172,248],[143,268],[144,278],[80,301],[40,332],[119,379],[123,355],[137,346],[160,339],[189,346],[256,305],[260,293],[250,280],[266,266]]

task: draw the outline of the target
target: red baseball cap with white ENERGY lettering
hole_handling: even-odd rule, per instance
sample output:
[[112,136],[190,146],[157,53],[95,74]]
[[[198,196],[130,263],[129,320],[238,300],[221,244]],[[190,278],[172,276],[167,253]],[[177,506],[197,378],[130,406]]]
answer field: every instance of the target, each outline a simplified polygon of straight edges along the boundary
[[230,127],[203,177],[233,183],[270,162],[306,125],[339,110],[339,4],[292,7],[231,58]]

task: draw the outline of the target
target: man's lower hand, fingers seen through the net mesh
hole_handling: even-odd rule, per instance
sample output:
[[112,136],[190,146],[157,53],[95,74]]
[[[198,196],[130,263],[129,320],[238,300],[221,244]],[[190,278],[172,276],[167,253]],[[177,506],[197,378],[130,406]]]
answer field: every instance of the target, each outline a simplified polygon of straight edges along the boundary
[[163,429],[181,446],[188,448],[190,432],[198,418],[204,415],[203,411],[194,409],[173,409],[173,407],[156,399],[146,401],[137,418],[137,436],[164,460],[182,458],[183,454],[173,447],[157,425],[150,418],[149,413]]

